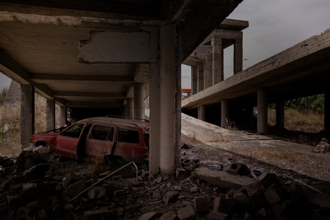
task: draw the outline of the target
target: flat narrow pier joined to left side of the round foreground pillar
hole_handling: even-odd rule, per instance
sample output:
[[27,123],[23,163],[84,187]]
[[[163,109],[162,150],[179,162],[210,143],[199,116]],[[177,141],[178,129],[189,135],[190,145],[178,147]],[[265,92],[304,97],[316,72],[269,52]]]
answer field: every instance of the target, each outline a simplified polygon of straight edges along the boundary
[[149,172],[159,173],[160,167],[160,79],[159,64],[151,64],[150,73],[150,137]]

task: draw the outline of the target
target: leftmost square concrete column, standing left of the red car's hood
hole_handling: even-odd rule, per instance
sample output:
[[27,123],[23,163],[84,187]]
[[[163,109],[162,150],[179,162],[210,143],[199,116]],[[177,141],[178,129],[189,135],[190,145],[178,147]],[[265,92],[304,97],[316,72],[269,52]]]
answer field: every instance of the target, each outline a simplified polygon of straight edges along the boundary
[[34,86],[21,84],[20,96],[20,143],[22,148],[26,148],[34,134]]

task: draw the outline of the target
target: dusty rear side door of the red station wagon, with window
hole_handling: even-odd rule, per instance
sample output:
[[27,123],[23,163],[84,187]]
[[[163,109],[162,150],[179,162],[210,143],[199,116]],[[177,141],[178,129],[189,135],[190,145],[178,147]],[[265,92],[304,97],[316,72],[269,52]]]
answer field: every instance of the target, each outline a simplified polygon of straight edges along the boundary
[[86,157],[103,157],[111,154],[115,131],[115,126],[94,124],[85,142]]

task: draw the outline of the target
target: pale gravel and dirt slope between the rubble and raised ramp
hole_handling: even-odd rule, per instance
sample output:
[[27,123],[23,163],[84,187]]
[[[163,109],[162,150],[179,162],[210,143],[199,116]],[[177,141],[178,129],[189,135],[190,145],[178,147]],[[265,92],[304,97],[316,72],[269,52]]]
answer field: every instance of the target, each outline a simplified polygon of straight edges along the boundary
[[268,170],[284,181],[298,180],[320,191],[330,191],[330,153],[313,152],[312,146],[273,135],[229,131],[182,114],[182,142],[187,141],[195,145],[187,154],[197,153],[201,161],[243,162],[251,170]]

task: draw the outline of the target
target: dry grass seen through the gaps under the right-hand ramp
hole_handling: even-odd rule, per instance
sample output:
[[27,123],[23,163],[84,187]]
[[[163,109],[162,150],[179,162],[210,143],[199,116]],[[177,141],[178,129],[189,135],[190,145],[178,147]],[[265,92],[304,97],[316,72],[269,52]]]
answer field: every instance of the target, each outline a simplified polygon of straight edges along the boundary
[[[276,124],[276,110],[268,110],[268,125]],[[324,114],[314,111],[301,113],[293,109],[284,110],[284,128],[290,131],[316,133],[324,128]]]

